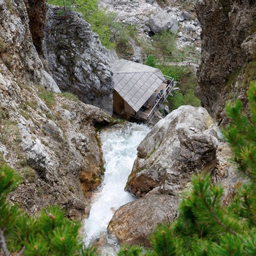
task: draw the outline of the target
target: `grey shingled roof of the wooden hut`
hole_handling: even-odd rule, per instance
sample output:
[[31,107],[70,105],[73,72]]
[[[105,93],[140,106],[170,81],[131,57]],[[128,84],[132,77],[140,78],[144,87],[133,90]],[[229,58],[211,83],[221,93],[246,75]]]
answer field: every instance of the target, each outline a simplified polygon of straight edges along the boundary
[[162,72],[125,59],[111,61],[114,89],[136,112],[165,80]]

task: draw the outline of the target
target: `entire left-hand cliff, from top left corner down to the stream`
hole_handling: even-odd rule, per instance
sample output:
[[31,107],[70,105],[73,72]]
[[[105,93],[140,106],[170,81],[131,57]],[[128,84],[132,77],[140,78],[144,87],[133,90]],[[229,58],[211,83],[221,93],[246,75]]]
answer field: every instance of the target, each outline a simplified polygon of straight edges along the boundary
[[45,70],[44,4],[0,0],[0,162],[21,177],[13,203],[29,214],[59,204],[81,219],[89,211],[86,195],[102,177],[97,127],[111,118],[61,94]]

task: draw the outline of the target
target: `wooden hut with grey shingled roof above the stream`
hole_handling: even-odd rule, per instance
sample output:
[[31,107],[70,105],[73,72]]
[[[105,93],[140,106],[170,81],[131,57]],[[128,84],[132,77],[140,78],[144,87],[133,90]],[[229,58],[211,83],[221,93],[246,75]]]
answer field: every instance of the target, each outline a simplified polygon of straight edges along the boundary
[[153,108],[154,95],[165,81],[164,75],[157,68],[124,59],[113,59],[111,66],[115,83],[113,111],[127,120],[147,120],[143,113]]

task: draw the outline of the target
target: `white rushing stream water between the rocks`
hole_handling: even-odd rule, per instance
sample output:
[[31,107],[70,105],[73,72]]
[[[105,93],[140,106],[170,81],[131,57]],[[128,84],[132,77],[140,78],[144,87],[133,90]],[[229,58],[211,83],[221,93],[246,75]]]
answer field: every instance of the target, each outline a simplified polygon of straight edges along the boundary
[[[149,130],[146,125],[130,123],[100,133],[105,175],[102,186],[92,199],[89,218],[85,220],[86,245],[107,233],[108,223],[118,207],[135,199],[124,191],[124,187],[137,157],[137,147]],[[109,238],[106,239],[110,244]]]

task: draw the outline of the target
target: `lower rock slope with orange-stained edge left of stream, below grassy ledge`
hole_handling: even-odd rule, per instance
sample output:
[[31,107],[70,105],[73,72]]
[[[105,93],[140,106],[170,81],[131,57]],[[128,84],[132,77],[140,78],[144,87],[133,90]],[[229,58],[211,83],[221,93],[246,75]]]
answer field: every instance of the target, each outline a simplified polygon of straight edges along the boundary
[[34,86],[2,75],[0,81],[0,156],[23,178],[10,199],[29,214],[59,204],[68,217],[81,219],[89,211],[85,195],[102,175],[94,126],[108,124],[110,116],[61,94],[53,94],[48,107]]

